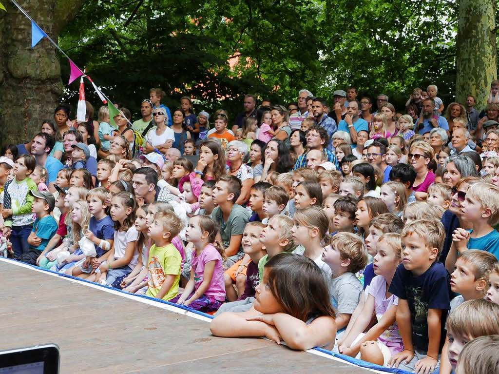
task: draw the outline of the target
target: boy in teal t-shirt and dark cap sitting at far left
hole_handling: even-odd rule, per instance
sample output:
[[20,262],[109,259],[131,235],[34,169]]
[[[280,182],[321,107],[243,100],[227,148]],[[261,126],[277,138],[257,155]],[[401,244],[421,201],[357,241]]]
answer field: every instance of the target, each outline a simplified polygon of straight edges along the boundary
[[31,212],[36,214],[36,220],[27,239],[29,248],[22,254],[20,261],[36,265],[36,259],[57,231],[57,222],[50,215],[55,206],[55,198],[49,192],[30,190],[29,193],[34,197]]

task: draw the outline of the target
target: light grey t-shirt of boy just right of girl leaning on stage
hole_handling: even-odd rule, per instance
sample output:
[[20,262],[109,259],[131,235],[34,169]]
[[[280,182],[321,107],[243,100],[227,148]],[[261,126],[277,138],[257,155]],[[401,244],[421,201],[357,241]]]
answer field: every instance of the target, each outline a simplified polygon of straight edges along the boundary
[[362,283],[353,273],[344,273],[331,281],[332,304],[337,305],[338,313],[352,314],[361,293]]

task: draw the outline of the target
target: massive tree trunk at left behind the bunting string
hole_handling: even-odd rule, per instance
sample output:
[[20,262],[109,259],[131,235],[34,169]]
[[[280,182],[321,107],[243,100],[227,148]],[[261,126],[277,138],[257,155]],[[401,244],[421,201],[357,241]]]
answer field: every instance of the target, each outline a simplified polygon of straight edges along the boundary
[[[19,5],[57,42],[60,30],[85,0],[18,0]],[[31,48],[31,22],[8,1],[0,10],[0,144],[30,140],[50,118],[62,96],[59,57],[43,38]]]

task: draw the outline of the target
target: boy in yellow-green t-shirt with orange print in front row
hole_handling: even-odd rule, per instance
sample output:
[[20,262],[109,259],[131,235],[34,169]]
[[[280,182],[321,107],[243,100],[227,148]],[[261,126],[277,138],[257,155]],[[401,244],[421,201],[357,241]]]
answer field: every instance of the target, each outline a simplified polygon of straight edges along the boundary
[[182,222],[172,212],[154,216],[147,234],[154,244],[149,250],[149,283],[146,296],[168,301],[179,293],[182,257],[172,239],[182,230]]

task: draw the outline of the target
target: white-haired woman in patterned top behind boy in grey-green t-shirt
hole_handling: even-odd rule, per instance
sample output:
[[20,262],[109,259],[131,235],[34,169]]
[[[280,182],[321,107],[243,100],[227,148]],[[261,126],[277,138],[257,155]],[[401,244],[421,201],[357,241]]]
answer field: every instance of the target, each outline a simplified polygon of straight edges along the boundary
[[233,140],[227,144],[227,161],[230,163],[229,175],[234,175],[241,180],[241,195],[236,204],[243,205],[250,198],[250,189],[253,185],[253,169],[243,163],[243,158],[248,152],[248,145],[241,140]]

